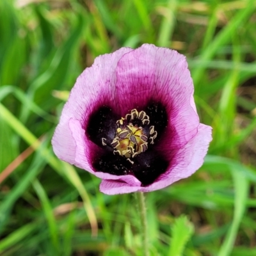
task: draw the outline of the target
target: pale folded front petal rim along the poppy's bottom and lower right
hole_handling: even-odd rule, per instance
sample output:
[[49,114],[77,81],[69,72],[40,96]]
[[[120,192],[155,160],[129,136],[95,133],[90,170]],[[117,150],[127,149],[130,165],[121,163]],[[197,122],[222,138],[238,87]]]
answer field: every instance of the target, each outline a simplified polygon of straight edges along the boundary
[[131,186],[117,180],[102,180],[100,191],[108,195],[135,191],[149,192],[165,188],[177,180],[189,177],[204,162],[209,143],[212,140],[211,131],[212,128],[210,126],[200,124],[196,136],[184,148],[176,152],[173,166],[170,166],[169,170],[161,175],[153,184],[140,187]]

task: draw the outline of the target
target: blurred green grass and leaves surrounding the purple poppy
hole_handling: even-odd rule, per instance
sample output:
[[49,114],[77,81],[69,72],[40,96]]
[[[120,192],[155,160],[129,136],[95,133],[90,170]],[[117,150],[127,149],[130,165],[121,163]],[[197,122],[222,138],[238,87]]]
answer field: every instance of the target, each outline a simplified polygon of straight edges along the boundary
[[147,194],[151,255],[256,255],[256,2],[0,1],[0,255],[141,255],[132,195],[62,163],[51,137],[99,54],[147,42],[185,54],[205,164]]

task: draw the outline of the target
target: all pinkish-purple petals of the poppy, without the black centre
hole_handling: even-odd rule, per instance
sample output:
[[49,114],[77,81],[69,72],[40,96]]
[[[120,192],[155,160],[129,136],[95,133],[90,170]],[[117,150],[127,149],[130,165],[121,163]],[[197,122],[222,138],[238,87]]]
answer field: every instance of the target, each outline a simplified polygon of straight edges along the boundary
[[[133,175],[95,172],[92,155],[101,156],[104,148],[89,140],[85,131],[93,111],[108,106],[121,117],[134,108],[144,110],[150,102],[166,108],[168,127],[155,150],[170,161],[168,170],[145,187]],[[60,159],[102,179],[100,191],[114,195],[153,191],[188,177],[202,165],[210,141],[211,127],[199,124],[184,56],[145,44],[99,56],[84,70],[63,108],[52,146]]]

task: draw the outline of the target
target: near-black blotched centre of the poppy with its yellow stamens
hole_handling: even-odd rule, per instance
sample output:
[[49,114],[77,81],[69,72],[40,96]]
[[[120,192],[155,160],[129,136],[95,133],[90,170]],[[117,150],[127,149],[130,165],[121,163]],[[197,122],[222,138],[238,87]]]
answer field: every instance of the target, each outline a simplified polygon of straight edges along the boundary
[[154,182],[168,168],[161,147],[168,118],[165,108],[149,102],[145,109],[132,109],[118,118],[111,108],[101,106],[90,116],[86,135],[101,149],[90,152],[95,172],[134,175],[143,186]]

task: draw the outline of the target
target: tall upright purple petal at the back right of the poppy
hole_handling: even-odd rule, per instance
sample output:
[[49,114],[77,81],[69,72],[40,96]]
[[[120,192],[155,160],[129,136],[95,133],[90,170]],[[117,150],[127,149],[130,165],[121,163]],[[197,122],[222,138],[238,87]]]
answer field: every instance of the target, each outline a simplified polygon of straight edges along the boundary
[[195,136],[199,118],[186,58],[167,48],[144,44],[122,56],[116,68],[116,99],[122,115],[143,109],[148,100],[161,102],[168,114],[166,140],[181,148]]

